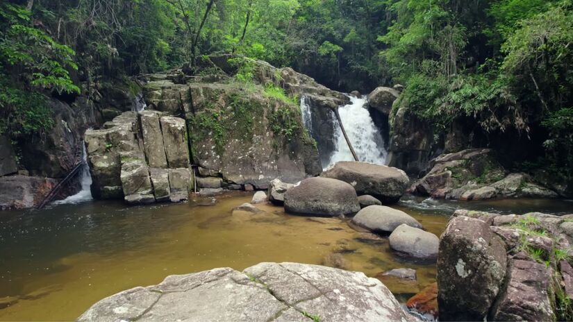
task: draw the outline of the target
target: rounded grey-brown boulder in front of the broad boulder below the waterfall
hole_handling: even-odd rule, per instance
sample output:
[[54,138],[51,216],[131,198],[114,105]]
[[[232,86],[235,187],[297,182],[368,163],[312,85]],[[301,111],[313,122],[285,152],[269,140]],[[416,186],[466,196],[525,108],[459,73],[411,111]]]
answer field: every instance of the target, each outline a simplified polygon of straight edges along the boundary
[[308,178],[285,192],[285,210],[295,214],[338,216],[360,210],[354,188],[341,180]]

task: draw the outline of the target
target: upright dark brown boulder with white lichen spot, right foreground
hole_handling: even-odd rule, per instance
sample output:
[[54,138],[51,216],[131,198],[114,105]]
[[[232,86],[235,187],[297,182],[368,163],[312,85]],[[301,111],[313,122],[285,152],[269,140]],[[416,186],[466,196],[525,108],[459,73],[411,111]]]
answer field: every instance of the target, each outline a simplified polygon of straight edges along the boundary
[[454,217],[440,239],[440,321],[483,321],[506,276],[501,239],[485,221]]

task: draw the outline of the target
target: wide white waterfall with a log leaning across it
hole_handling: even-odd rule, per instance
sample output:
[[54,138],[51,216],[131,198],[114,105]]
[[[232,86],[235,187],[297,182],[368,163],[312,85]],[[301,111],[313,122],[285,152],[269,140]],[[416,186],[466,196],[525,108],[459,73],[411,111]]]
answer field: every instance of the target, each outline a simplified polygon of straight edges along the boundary
[[[350,139],[352,147],[358,155],[358,160],[376,164],[385,164],[386,155],[384,149],[384,140],[380,130],[374,125],[372,117],[364,104],[365,96],[362,98],[349,96],[350,103],[338,108],[342,125]],[[329,164],[338,161],[354,161],[352,153],[348,147],[338,121],[334,118],[335,123],[335,151],[331,155]]]

